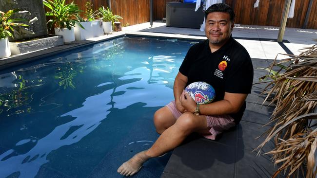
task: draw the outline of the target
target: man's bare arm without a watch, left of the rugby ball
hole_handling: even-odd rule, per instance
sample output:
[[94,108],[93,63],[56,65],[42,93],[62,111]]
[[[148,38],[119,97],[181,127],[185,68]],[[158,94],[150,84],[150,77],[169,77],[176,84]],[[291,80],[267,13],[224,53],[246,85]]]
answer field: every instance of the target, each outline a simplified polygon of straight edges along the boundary
[[180,97],[183,89],[185,89],[186,84],[187,84],[187,77],[185,75],[181,74],[180,72],[178,72],[177,76],[175,77],[173,91],[174,91],[176,108],[181,113],[185,112],[185,109],[181,106],[180,101],[179,101],[179,97]]

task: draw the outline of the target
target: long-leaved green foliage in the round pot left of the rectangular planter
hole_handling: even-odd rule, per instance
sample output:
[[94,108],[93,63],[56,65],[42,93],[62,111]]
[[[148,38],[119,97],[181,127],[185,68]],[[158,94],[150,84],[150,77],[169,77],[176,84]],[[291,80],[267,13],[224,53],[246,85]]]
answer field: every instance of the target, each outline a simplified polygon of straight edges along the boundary
[[76,23],[83,28],[78,19],[81,10],[77,4],[74,4],[74,1],[70,4],[66,4],[65,0],[43,0],[43,4],[51,10],[51,12],[46,12],[45,15],[53,17],[53,19],[47,22],[50,24],[50,29],[54,25],[56,28],[67,28],[71,30]]

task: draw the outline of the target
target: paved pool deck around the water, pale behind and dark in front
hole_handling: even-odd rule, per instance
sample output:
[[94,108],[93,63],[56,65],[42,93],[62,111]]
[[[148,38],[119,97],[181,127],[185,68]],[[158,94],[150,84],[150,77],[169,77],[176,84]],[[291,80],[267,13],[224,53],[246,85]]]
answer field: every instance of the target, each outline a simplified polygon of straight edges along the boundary
[[[154,22],[153,27],[149,23],[143,23],[122,29],[111,35],[8,57],[0,60],[0,70],[125,34],[206,39],[204,32],[199,29],[166,27],[161,22]],[[233,37],[248,50],[252,58],[254,83],[266,74],[258,67],[268,67],[276,56],[277,59],[283,59],[287,56],[282,54],[299,54],[298,50],[317,43],[313,40],[317,39],[317,30],[286,28],[284,41],[281,43],[276,41],[277,34],[278,27],[237,25],[234,28]],[[264,84],[253,86],[246,100],[244,116],[236,128],[223,133],[216,141],[193,134],[174,149],[161,178],[270,178],[277,169],[270,156],[261,154],[257,157],[257,152],[252,151],[263,141],[263,138],[254,138],[272,126],[265,125],[269,122],[274,107],[269,107],[268,103],[261,105],[264,96],[260,93],[264,87]],[[269,142],[262,153],[273,148],[273,142]]]

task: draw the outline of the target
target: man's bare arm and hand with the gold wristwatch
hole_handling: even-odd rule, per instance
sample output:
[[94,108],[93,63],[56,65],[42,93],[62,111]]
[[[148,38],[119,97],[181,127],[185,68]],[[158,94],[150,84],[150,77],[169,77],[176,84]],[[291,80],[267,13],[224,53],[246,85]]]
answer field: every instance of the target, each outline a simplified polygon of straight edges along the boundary
[[[243,93],[228,93],[225,92],[223,100],[200,105],[199,110],[201,115],[223,115],[237,113],[242,107],[248,94]],[[196,102],[192,97],[183,91],[180,96],[181,106],[186,110],[193,112],[196,108]]]

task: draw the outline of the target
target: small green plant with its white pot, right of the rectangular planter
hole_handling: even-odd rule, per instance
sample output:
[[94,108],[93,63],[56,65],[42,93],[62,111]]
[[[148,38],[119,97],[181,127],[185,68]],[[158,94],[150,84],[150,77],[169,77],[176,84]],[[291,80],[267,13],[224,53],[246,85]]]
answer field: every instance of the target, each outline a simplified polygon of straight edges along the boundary
[[118,15],[114,15],[112,11],[107,7],[105,9],[103,6],[99,7],[99,14],[100,19],[103,21],[103,32],[105,34],[111,34],[112,33],[112,26],[116,21],[119,21],[119,18],[122,19]]

